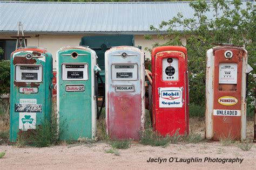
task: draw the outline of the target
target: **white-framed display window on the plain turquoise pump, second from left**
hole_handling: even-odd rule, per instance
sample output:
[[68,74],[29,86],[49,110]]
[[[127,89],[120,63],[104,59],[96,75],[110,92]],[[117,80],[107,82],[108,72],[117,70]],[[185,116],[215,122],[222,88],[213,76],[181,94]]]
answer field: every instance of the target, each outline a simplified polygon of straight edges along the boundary
[[88,80],[88,64],[63,63],[62,80]]

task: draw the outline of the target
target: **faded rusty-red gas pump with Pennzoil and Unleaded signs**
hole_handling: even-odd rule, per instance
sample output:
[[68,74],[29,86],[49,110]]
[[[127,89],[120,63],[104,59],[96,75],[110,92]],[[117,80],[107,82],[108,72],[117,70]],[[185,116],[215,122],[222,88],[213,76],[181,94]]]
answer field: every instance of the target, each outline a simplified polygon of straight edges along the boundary
[[247,51],[217,46],[207,51],[205,138],[246,138]]

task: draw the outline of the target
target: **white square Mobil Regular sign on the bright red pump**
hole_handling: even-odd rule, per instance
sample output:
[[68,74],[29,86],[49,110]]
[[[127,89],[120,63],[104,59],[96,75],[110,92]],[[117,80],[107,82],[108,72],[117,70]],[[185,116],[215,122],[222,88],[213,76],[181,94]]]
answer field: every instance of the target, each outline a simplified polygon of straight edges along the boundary
[[181,108],[182,91],[182,87],[159,88],[159,108]]

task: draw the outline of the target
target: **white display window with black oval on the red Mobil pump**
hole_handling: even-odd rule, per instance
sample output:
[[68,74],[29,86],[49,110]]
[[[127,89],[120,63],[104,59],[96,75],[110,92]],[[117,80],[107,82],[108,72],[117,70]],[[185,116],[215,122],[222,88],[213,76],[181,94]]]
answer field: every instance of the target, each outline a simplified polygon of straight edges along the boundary
[[177,81],[179,80],[179,60],[177,58],[164,58],[163,59],[163,80],[164,81]]

